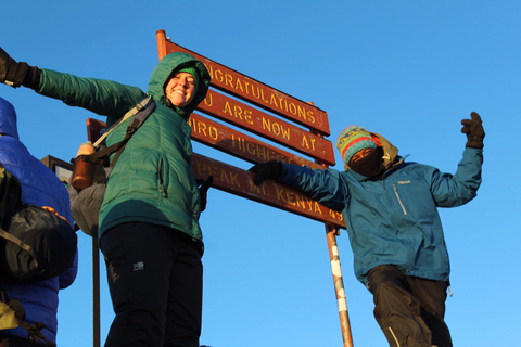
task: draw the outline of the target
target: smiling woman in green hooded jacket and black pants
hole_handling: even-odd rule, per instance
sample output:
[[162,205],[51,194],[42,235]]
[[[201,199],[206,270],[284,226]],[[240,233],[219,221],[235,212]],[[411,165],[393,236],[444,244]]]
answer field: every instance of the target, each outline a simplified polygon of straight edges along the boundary
[[[17,63],[3,50],[0,81],[104,115],[109,127],[145,97],[137,87]],[[106,347],[199,347],[201,200],[187,120],[208,86],[202,62],[180,52],[165,56],[147,90],[155,110],[111,172],[99,228],[116,313]],[[126,128],[115,128],[107,145],[123,140]]]

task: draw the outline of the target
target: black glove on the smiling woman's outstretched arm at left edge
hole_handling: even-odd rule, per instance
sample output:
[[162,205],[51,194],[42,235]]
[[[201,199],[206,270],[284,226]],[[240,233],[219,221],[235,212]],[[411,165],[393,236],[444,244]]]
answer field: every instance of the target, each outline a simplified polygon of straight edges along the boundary
[[17,88],[36,89],[40,85],[40,69],[27,63],[18,63],[0,48],[0,82]]

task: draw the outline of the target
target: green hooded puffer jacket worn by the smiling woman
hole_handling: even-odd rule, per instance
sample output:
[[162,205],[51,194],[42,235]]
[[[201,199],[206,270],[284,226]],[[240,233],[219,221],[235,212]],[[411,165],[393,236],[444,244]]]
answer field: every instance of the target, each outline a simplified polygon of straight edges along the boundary
[[[194,100],[185,108],[170,107],[165,86],[174,72],[188,66],[200,74]],[[187,120],[204,100],[209,79],[202,62],[181,52],[166,55],[154,68],[147,93],[152,95],[156,108],[129,140],[111,172],[100,211],[100,240],[109,229],[136,221],[202,239],[200,195],[191,169],[191,128]],[[50,69],[41,69],[37,92],[106,116],[107,127],[145,97],[137,87]],[[107,145],[124,139],[129,121],[107,136]]]

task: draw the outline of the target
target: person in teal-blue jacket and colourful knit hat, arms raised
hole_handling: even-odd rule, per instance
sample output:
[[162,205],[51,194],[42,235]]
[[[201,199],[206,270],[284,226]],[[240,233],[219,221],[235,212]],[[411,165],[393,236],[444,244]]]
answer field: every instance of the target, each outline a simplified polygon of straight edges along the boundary
[[461,206],[481,184],[480,115],[461,120],[467,134],[455,175],[406,163],[384,137],[358,126],[336,146],[345,171],[268,162],[254,183],[277,180],[342,211],[356,278],[373,294],[374,318],[390,346],[452,346],[444,321],[449,260],[437,207]]

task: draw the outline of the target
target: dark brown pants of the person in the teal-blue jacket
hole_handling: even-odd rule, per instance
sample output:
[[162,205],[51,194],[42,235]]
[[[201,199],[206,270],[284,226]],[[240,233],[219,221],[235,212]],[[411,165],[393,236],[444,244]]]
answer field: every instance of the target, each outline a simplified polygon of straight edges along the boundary
[[452,347],[445,324],[448,283],[406,275],[393,265],[368,274],[374,318],[392,347]]

